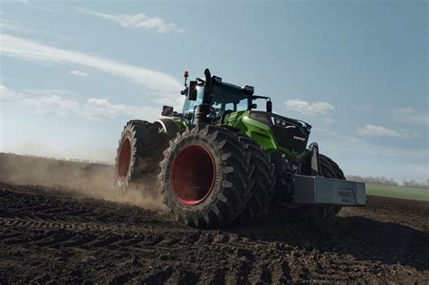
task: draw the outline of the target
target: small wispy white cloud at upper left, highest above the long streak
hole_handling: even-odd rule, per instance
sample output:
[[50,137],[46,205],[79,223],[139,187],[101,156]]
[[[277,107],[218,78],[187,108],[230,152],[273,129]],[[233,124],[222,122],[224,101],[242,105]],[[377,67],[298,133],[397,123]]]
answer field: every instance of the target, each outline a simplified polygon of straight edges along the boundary
[[103,19],[107,19],[120,24],[125,28],[143,28],[152,30],[157,33],[176,32],[183,33],[183,29],[179,29],[175,23],[168,23],[164,19],[158,17],[150,17],[146,14],[104,14],[98,12],[87,11],[89,14],[94,14]]

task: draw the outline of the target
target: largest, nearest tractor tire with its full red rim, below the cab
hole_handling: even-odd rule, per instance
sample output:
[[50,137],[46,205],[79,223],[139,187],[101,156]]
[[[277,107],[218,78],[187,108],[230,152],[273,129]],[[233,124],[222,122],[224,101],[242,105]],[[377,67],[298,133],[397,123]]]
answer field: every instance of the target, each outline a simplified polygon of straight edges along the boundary
[[159,192],[176,221],[222,226],[243,212],[253,166],[233,132],[212,125],[186,128],[170,140],[164,156]]

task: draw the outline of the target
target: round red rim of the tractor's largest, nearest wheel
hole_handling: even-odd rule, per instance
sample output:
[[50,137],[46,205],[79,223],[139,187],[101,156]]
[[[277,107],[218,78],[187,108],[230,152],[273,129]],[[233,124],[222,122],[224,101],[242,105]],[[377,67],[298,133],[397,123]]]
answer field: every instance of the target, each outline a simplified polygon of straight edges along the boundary
[[171,168],[171,185],[177,200],[186,205],[202,203],[215,184],[215,160],[203,146],[179,151]]

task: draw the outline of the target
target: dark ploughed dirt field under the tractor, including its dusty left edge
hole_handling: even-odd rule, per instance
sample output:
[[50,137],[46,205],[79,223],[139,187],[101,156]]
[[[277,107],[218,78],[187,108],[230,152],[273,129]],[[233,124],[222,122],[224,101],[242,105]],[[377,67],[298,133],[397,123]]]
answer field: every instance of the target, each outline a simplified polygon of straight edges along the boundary
[[0,154],[1,284],[429,282],[429,203],[369,196],[322,223],[201,231],[156,197],[103,195],[108,168]]

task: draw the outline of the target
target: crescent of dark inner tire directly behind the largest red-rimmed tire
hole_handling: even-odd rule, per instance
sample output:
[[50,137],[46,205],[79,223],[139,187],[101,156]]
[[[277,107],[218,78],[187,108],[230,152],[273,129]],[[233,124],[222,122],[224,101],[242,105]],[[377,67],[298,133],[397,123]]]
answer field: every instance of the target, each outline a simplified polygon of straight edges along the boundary
[[252,198],[238,218],[240,223],[248,223],[264,214],[272,201],[276,179],[271,159],[262,150],[261,146],[255,143],[252,138],[239,137],[238,139],[243,143],[244,148],[250,152],[251,164],[254,166]]

